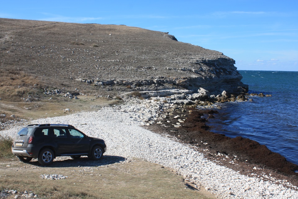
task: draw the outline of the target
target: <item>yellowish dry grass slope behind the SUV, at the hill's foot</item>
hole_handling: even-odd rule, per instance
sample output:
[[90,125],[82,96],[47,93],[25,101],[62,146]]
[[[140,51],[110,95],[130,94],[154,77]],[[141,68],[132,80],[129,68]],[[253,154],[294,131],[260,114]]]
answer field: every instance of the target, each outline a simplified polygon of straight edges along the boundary
[[[56,95],[44,95],[43,88],[49,86],[58,88],[65,87],[72,94],[79,95],[75,88],[83,93],[100,93],[102,95],[111,95],[108,91],[97,91],[94,86],[81,86],[79,82],[70,84],[58,80],[49,80],[47,77],[34,76],[29,71],[22,71],[19,67],[1,67],[0,68],[0,110],[6,115],[15,114],[16,118],[37,119],[43,117],[61,116],[69,113],[75,113],[82,110],[98,110],[101,106],[114,105],[120,102],[120,99],[107,99],[105,97],[95,97],[97,95],[79,95],[79,99],[68,99],[57,97]],[[51,89],[50,89],[51,90]],[[31,102],[25,102],[28,96],[31,96]],[[52,99],[50,99],[52,98]],[[70,109],[70,112],[65,112]],[[2,114],[2,113],[1,113]],[[1,122],[12,120],[13,118],[0,118]]]

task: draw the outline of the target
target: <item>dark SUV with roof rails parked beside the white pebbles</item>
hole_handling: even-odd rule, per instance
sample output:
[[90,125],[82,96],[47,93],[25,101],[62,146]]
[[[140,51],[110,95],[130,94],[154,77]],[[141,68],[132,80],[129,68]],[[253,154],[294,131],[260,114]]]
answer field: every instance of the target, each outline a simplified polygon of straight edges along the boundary
[[11,151],[22,162],[37,158],[39,164],[49,165],[57,156],[78,159],[88,155],[93,160],[101,160],[106,144],[69,124],[30,124],[16,134]]

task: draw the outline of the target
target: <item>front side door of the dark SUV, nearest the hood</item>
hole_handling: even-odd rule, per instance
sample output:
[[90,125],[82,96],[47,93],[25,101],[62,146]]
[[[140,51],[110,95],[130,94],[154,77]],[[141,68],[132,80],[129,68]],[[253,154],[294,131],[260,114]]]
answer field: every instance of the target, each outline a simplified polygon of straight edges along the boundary
[[72,153],[87,155],[89,152],[90,138],[88,138],[85,134],[79,132],[77,129],[74,128],[69,128],[68,131],[70,134],[70,140],[73,145]]

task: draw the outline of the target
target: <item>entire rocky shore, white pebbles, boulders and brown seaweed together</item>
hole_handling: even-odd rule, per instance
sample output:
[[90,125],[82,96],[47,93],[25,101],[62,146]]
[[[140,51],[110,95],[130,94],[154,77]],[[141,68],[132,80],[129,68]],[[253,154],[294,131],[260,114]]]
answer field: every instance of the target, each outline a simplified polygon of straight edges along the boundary
[[[249,139],[231,139],[209,132],[206,121],[216,117],[220,103],[202,99],[217,102],[233,100],[235,96],[224,97],[226,92],[215,97],[205,95],[205,91],[160,92],[129,93],[122,96],[123,104],[103,107],[97,112],[30,122],[70,123],[90,132],[90,136],[103,138],[109,146],[106,155],[136,157],[169,167],[220,198],[298,197],[297,174],[293,173],[297,165]],[[147,95],[147,99],[142,95]],[[249,100],[247,97],[238,95],[235,99]],[[199,110],[196,104],[206,105]],[[13,136],[18,127],[0,134]],[[260,162],[262,159],[265,161]]]

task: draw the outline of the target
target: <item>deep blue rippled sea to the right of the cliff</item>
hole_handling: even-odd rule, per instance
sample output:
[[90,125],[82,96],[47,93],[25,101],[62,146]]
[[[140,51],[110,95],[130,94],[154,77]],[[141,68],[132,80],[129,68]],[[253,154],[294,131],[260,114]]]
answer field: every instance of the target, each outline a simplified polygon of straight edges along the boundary
[[251,101],[221,104],[219,114],[209,119],[211,131],[257,141],[298,164],[298,72],[239,72],[249,93],[272,97],[249,96]]

